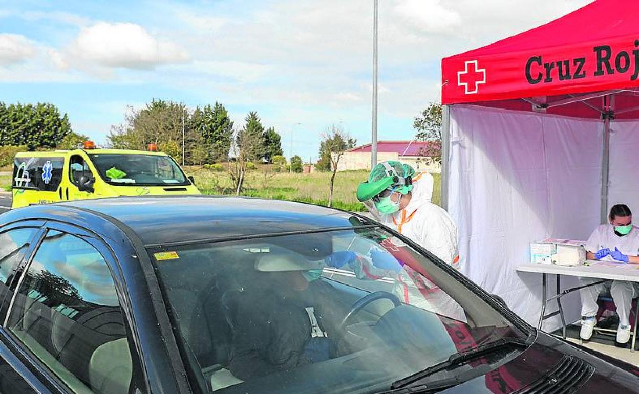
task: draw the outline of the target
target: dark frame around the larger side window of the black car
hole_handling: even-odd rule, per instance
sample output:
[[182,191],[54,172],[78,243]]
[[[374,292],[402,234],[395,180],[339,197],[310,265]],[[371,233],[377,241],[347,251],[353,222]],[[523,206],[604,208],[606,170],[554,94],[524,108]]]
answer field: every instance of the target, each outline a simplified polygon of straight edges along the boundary
[[[45,236],[49,231],[60,231],[80,238],[83,241],[89,243],[89,245],[93,246],[104,258],[104,261],[107,263],[107,267],[109,268],[109,272],[111,273],[111,278],[114,282],[114,286],[116,288],[118,303],[122,310],[125,331],[127,333],[128,345],[133,367],[130,387],[133,387],[137,391],[148,391],[148,376],[146,375],[146,371],[144,370],[141,346],[139,345],[139,338],[137,337],[137,332],[134,328],[135,326],[132,320],[130,300],[126,296],[127,292],[125,291],[125,287],[123,286],[121,280],[122,271],[119,268],[118,259],[112,251],[111,247],[102,237],[89,231],[88,229],[85,229],[84,227],[79,227],[64,222],[56,222],[52,220],[44,221],[39,231],[37,232],[38,237],[36,238],[36,241],[29,245],[28,258],[23,258],[22,262],[20,262],[19,266],[17,267],[17,270],[21,270],[21,273],[20,277],[17,280],[15,280],[14,277],[12,281],[13,297],[10,301],[10,305],[7,309],[4,319],[0,321],[0,342],[4,342],[4,344],[7,345],[10,351],[13,351],[14,354],[17,353],[24,367],[26,367],[27,370],[34,374],[36,376],[36,379],[40,381],[40,383],[47,386],[49,390],[52,390],[52,392],[56,393],[75,394],[72,390],[70,390],[70,388],[66,386],[65,383],[63,383],[63,381],[57,375],[52,374],[50,368],[45,365],[45,363],[43,363],[38,357],[36,357],[35,354],[33,354],[33,352],[28,349],[26,345],[24,345],[7,328],[8,319],[13,310],[13,301],[17,296],[17,291],[19,291],[20,285],[22,285],[24,277],[26,277],[27,269],[29,268],[31,261],[33,261],[33,258],[40,249],[42,241],[45,239]],[[17,368],[15,367],[14,369],[17,370]]]

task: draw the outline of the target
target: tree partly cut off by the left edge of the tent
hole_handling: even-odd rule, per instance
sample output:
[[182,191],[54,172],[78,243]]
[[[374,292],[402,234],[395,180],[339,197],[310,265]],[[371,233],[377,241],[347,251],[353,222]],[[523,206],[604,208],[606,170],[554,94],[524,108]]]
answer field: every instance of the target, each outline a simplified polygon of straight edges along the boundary
[[413,119],[415,139],[428,141],[426,148],[419,149],[424,161],[442,163],[442,104],[431,102],[419,116]]

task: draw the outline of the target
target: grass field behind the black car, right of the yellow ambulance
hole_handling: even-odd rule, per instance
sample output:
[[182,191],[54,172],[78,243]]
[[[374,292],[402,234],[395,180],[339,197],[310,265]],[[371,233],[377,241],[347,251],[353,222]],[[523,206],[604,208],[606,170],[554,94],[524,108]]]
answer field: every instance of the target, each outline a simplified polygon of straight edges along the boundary
[[[197,167],[187,167],[185,170],[187,174],[194,176],[196,186],[202,193],[235,195],[231,178],[226,172],[213,172],[212,170]],[[366,211],[364,204],[357,201],[355,191],[357,190],[357,185],[364,181],[367,176],[367,171],[337,172],[333,192],[333,206],[346,211]],[[433,174],[433,177],[435,178],[433,202],[439,204],[440,174]],[[312,174],[269,172],[265,175],[262,170],[251,170],[247,173],[242,195],[326,205],[329,181],[330,172],[314,172]],[[10,175],[0,175],[0,187],[3,190],[11,190]]]

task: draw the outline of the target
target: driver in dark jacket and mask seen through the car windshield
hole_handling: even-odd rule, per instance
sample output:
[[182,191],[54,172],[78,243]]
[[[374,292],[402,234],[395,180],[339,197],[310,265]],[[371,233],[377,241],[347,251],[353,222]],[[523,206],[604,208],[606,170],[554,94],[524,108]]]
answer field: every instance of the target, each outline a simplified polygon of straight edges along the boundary
[[256,280],[238,299],[233,375],[248,380],[331,358],[337,326],[350,305],[338,304],[334,288],[318,280],[324,266],[288,251],[258,258],[255,269],[268,288]]

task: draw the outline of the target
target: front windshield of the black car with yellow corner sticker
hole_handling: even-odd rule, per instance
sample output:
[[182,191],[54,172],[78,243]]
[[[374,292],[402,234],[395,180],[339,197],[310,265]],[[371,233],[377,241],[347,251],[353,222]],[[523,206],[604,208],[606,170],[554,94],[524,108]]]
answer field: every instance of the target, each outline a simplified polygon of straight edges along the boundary
[[452,354],[526,337],[376,227],[149,253],[201,391],[373,393]]

